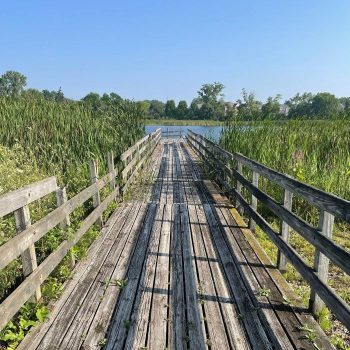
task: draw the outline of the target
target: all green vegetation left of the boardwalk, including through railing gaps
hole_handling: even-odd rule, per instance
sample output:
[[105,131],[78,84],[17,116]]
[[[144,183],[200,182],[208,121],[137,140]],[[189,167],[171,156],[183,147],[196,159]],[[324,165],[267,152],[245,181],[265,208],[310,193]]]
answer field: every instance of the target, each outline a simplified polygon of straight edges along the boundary
[[[88,161],[99,160],[99,176],[107,172],[107,153],[119,155],[144,134],[142,111],[134,102],[109,103],[98,110],[74,101],[0,97],[0,195],[22,185],[55,175],[66,186],[67,197],[90,184]],[[108,186],[100,191],[101,200],[109,194]],[[116,204],[104,212],[106,219]],[[56,207],[51,193],[29,204],[30,218],[37,221]],[[70,215],[69,234],[92,210],[92,199],[78,206]],[[99,229],[91,226],[71,248],[76,260],[84,257]],[[13,214],[0,218],[0,245],[16,234]],[[40,263],[66,238],[57,225],[35,243]],[[0,330],[0,348],[14,348],[28,328],[48,316],[45,304],[62,292],[69,278],[69,254],[41,285],[43,300],[26,302],[15,317]],[[0,302],[22,280],[21,258],[17,257],[0,271]]]

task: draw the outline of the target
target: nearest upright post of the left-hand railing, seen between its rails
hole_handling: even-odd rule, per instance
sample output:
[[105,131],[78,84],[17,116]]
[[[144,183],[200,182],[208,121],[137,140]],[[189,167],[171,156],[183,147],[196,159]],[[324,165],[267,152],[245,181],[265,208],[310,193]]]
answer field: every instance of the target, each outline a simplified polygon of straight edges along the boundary
[[[16,224],[17,233],[25,230],[30,226],[30,214],[29,214],[29,206],[24,205],[21,208],[15,210],[14,212],[14,220]],[[21,254],[22,258],[22,269],[24,277],[30,274],[37,267],[36,263],[36,255],[35,255],[35,247],[34,244],[31,244],[29,248],[25,249]],[[30,296],[30,302],[36,302],[41,297],[40,285],[37,286],[35,293]]]

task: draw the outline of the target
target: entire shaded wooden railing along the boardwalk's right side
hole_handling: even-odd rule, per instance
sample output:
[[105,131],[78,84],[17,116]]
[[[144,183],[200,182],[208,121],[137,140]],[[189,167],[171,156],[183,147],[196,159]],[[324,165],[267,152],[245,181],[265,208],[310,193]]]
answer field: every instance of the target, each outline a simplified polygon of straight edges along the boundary
[[[240,153],[231,154],[191,130],[188,130],[188,141],[212,171],[217,183],[228,195],[235,198],[235,207],[237,209],[242,207],[249,216],[249,228],[254,230],[257,224],[277,246],[277,268],[282,273],[286,272],[289,260],[311,286],[310,310],[314,313],[320,311],[324,302],[347,329],[350,329],[350,306],[326,282],[329,259],[350,274],[350,252],[331,238],[334,216],[350,223],[350,202],[270,169]],[[235,168],[233,160],[236,161]],[[242,166],[250,169],[251,180],[242,175]],[[282,187],[281,202],[258,188],[259,175]],[[231,184],[233,179],[235,187]],[[242,196],[242,186],[250,192],[250,202]],[[318,228],[291,211],[292,194],[319,208]],[[257,212],[257,200],[279,217],[279,232]],[[313,267],[309,266],[289,244],[289,226],[315,247]]]

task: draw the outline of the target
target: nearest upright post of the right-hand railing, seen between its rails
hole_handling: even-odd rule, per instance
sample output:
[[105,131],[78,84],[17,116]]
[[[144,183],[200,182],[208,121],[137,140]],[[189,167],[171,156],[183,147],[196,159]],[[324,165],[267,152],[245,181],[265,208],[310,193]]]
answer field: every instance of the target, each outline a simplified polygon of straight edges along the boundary
[[[333,223],[334,216],[323,209],[319,209],[318,230],[321,232],[321,234],[331,238],[333,233]],[[329,259],[318,249],[315,249],[313,269],[317,272],[319,278],[323,279],[325,282],[327,281],[328,265]],[[310,311],[312,311],[314,314],[321,311],[324,306],[324,302],[316,294],[316,291],[313,288],[311,288],[308,305]]]

